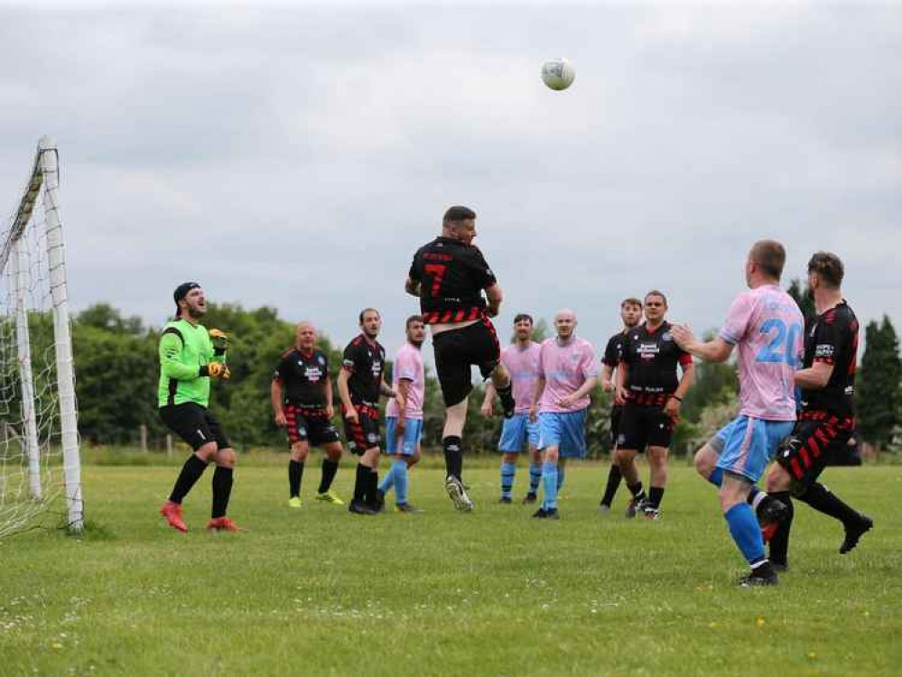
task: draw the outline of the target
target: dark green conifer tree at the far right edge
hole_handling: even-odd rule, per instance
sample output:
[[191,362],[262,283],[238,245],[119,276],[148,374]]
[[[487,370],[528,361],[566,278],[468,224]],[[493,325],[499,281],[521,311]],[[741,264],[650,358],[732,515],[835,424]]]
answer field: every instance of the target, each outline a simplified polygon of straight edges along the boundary
[[865,329],[857,392],[861,437],[888,446],[902,405],[902,359],[896,329],[886,315],[882,324],[871,321]]

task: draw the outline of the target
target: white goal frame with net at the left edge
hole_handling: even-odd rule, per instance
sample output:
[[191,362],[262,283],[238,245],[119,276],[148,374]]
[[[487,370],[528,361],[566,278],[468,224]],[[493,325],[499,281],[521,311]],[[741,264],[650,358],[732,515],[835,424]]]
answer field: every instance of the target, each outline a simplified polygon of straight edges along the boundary
[[84,527],[78,412],[56,144],[32,172],[0,235],[0,538],[52,514]]

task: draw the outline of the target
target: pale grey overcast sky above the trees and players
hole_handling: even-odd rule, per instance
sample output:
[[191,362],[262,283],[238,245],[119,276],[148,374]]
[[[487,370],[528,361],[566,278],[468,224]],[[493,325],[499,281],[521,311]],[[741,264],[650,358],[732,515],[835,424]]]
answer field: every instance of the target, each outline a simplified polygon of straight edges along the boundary
[[505,336],[569,306],[603,346],[651,288],[717,327],[761,237],[902,329],[902,5],[30,7],[0,6],[0,199],[54,136],[76,310],[160,325],[197,280],[338,344],[376,306],[395,348],[464,204]]

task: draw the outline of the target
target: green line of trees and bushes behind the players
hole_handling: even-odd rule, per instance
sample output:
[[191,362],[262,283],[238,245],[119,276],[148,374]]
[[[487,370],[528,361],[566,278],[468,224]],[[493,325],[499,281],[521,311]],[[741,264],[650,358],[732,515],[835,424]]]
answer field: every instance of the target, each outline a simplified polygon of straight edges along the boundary
[[[794,281],[789,292],[799,302],[806,320],[814,318],[814,302],[802,291],[801,284]],[[203,323],[208,328],[224,329],[234,337],[228,354],[231,380],[212,388],[210,402],[229,438],[238,449],[287,450],[284,431],[273,422],[269,388],[279,357],[293,345],[293,323],[280,318],[272,308],[246,310],[233,303],[208,303]],[[47,344],[46,348],[51,346],[48,322],[35,314],[30,324],[34,328],[33,347],[39,347],[36,352],[39,354],[42,344]],[[156,396],[157,341],[161,329],[147,327],[137,317],[124,317],[108,303],[93,305],[74,317],[73,353],[83,442],[135,444],[139,428],[144,425],[151,443],[163,446],[167,431],[157,414]],[[536,340],[552,333],[544,320],[536,323]],[[860,437],[880,448],[888,448],[902,421],[902,359],[898,338],[886,316],[881,322],[869,322],[864,334],[866,350],[860,356],[857,381]],[[329,356],[330,376],[334,379],[341,364],[342,347],[322,335],[319,346]],[[598,348],[603,348],[603,344]],[[386,369],[390,376],[390,364]],[[440,449],[442,395],[434,375],[427,371],[426,377],[423,447]],[[683,418],[674,431],[674,453],[693,449],[730,420],[737,408],[737,389],[732,365],[703,363],[696,367],[695,383],[683,402]],[[494,451],[501,429],[500,414],[485,418],[479,413],[483,395],[480,385],[470,396],[467,442],[468,450],[475,453]],[[598,389],[592,395],[587,418],[587,442],[592,457],[609,453],[611,405],[610,394]]]

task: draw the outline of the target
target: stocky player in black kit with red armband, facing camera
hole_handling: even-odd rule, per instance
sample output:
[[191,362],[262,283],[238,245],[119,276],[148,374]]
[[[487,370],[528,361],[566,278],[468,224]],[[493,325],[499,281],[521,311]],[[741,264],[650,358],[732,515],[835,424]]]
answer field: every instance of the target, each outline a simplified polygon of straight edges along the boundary
[[[645,323],[630,329],[623,339],[623,357],[617,370],[615,403],[620,414],[614,459],[633,495],[627,516],[641,511],[648,519],[661,516],[661,499],[667,485],[667,450],[680,404],[693,382],[693,358],[676,345],[671,324],[665,321],[667,299],[662,292],[646,294]],[[683,370],[677,380],[676,366]],[[639,481],[636,454],[648,450],[651,467],[648,496]]]

